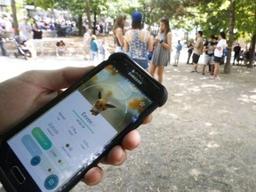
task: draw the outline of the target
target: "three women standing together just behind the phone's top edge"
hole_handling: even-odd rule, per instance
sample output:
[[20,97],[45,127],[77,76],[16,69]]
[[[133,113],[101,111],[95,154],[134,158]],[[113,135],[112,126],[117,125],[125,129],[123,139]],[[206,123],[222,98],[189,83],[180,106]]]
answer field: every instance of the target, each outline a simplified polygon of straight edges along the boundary
[[[157,80],[163,83],[164,66],[171,59],[172,33],[169,20],[160,19],[159,36],[151,36],[142,26],[142,14],[132,13],[132,27],[124,28],[126,16],[119,14],[116,17],[113,34],[116,43],[116,52],[127,53],[141,68],[147,70],[151,76],[157,73]],[[149,57],[150,55],[150,57]]]

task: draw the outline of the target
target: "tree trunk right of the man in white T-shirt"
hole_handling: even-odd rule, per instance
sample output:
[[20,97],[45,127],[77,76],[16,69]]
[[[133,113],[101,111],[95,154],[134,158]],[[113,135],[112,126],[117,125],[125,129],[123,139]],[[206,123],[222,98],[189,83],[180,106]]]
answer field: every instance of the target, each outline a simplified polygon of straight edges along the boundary
[[229,7],[229,27],[228,27],[228,55],[227,55],[227,61],[224,68],[225,74],[230,74],[230,60],[231,60],[231,54],[232,54],[232,46],[234,42],[234,28],[235,28],[235,0],[230,0],[230,7]]

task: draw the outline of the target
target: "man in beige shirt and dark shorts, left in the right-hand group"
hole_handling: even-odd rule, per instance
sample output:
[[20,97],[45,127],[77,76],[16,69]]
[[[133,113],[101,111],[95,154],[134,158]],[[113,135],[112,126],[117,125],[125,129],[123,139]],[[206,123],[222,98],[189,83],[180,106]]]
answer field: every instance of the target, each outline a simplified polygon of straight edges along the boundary
[[203,54],[203,48],[204,48],[203,32],[198,31],[196,34],[196,44],[194,44],[194,53],[192,56],[194,67],[191,73],[197,73],[198,61],[199,61],[200,55]]

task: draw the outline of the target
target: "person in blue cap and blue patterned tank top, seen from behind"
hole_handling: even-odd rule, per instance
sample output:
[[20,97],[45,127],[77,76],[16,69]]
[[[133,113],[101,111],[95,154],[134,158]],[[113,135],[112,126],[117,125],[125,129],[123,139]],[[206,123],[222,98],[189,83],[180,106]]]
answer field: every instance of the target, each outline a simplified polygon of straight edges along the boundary
[[142,28],[142,14],[132,13],[132,29],[124,35],[124,50],[129,52],[132,60],[148,71],[148,52],[152,52],[151,37],[148,30]]

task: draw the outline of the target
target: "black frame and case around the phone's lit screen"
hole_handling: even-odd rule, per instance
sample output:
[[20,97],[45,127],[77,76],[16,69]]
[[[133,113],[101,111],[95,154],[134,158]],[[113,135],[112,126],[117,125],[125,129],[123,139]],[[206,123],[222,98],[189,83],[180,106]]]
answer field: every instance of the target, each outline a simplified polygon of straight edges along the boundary
[[[6,159],[6,156],[12,156],[13,160],[14,160],[14,162],[12,164],[19,164],[19,167],[22,167],[22,170],[26,170],[25,167],[20,163],[20,160],[17,158],[17,156],[15,157],[15,154],[13,153],[12,149],[7,144],[7,140],[9,140],[15,133],[20,132],[20,130],[25,128],[28,124],[35,121],[36,118],[38,118],[39,116],[42,116],[46,111],[48,111],[50,108],[54,107],[58,102],[65,99],[71,92],[76,91],[76,89],[78,87],[80,87],[82,84],[84,84],[90,78],[92,78],[92,76],[95,76],[100,70],[102,70],[103,68],[106,68],[106,66],[108,66],[108,64],[113,64],[114,66],[118,66],[121,74],[124,75],[125,77],[127,77],[130,81],[132,81],[133,84],[137,85],[139,87],[139,89],[141,90],[141,92],[145,93],[145,95],[147,95],[148,98],[150,100],[152,100],[153,102],[147,109],[145,109],[140,114],[140,117],[138,118],[138,120],[135,123],[129,124],[127,127],[124,128],[124,130],[122,132],[120,132],[116,136],[116,138],[114,140],[112,140],[111,144],[108,145],[106,150],[92,164],[90,164],[89,166],[87,166],[85,168],[83,167],[82,169],[77,170],[76,176],[74,176],[73,178],[68,180],[68,182],[65,183],[64,186],[62,186],[61,191],[67,191],[67,190],[73,188],[76,185],[76,183],[83,178],[85,172],[87,172],[93,166],[99,164],[100,159],[103,156],[105,156],[111,148],[113,148],[114,146],[116,146],[123,140],[125,134],[132,131],[132,129],[136,129],[138,126],[140,126],[143,119],[146,116],[148,116],[150,113],[152,113],[152,111],[154,111],[157,107],[161,107],[164,105],[165,101],[167,100],[168,94],[162,84],[159,84],[152,76],[150,76],[147,72],[145,72],[143,68],[140,68],[140,66],[138,64],[136,64],[133,60],[131,60],[126,54],[124,54],[124,53],[112,54],[108,60],[103,61],[97,67],[92,68],[92,70],[89,71],[88,73],[86,73],[81,80],[76,82],[76,84],[71,85],[65,92],[60,93],[60,95],[58,97],[56,97],[55,99],[50,101],[43,108],[38,109],[36,111],[36,113],[29,116],[27,119],[25,119],[20,124],[18,124],[15,128],[13,128],[12,131],[6,133],[4,135],[4,137],[1,138],[0,147],[2,149],[0,150],[0,156],[1,156],[0,168],[2,169],[2,171],[0,174],[0,180],[3,182],[4,188],[6,188],[6,189],[8,188],[9,190],[12,191],[12,184],[9,182],[10,179],[9,178],[7,179],[3,175],[3,172],[8,172],[8,170],[6,170],[6,169],[9,169],[9,167],[4,168],[3,160]],[[125,64],[126,64],[127,68],[135,69],[136,72],[139,73],[140,77],[142,76],[141,78],[143,78],[145,84],[140,85],[134,79],[132,79],[131,76],[128,76],[127,74],[125,74],[125,72],[124,72],[124,70],[126,70]],[[146,86],[146,83],[147,83],[147,86]],[[148,85],[150,85],[150,89],[148,89]],[[5,154],[5,153],[7,153],[7,154]],[[5,156],[4,156],[4,154],[5,154]],[[4,159],[2,159],[3,157],[4,157]],[[36,184],[36,182],[30,177],[30,175],[28,174],[27,171],[26,171],[26,177],[29,179],[28,185],[30,185],[30,187],[32,186],[31,182],[33,184]],[[24,185],[27,185],[27,182],[25,182]],[[36,188],[36,190],[34,189],[34,191],[37,191],[37,189],[40,190],[39,188]]]

